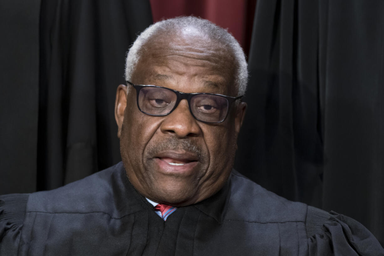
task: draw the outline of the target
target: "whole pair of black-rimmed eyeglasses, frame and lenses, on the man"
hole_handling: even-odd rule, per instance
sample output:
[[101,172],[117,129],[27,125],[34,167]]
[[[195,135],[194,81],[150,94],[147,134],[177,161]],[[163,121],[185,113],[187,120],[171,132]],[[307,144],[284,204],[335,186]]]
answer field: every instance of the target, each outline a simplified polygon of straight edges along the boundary
[[213,93],[183,93],[156,85],[134,85],[139,110],[151,116],[165,116],[187,100],[192,116],[204,123],[221,123],[227,118],[231,104],[242,96],[231,97]]

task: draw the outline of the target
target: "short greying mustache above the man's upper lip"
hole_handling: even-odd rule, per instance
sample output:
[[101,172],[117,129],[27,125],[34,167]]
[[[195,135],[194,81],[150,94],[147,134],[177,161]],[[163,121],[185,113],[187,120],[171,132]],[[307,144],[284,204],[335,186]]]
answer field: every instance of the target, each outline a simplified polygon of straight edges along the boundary
[[205,157],[204,150],[193,140],[180,140],[175,137],[169,137],[166,140],[148,145],[148,153],[150,156],[156,156],[164,151],[186,151],[194,154],[199,159]]

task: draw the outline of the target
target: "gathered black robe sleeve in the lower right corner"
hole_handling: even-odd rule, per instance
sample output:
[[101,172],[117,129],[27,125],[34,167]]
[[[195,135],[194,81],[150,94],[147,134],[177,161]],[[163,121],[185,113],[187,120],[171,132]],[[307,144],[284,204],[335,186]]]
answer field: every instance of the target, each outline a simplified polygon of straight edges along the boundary
[[342,214],[308,206],[306,229],[310,256],[384,256],[373,234]]

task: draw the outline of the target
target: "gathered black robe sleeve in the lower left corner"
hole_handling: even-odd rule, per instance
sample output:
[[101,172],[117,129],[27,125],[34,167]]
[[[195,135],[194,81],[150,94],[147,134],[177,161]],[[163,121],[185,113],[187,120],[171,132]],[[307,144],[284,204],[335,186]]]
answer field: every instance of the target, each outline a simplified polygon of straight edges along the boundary
[[18,253],[20,235],[29,194],[0,196],[0,255]]

